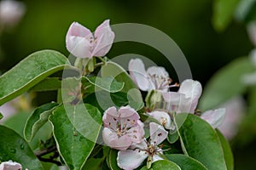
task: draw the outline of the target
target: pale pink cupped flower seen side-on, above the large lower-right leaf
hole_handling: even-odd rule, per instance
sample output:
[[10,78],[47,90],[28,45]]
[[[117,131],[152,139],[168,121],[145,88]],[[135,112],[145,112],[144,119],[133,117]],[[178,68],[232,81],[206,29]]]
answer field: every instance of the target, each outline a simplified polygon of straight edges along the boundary
[[191,79],[184,80],[177,92],[163,92],[168,110],[176,113],[194,113],[201,96],[201,83]]

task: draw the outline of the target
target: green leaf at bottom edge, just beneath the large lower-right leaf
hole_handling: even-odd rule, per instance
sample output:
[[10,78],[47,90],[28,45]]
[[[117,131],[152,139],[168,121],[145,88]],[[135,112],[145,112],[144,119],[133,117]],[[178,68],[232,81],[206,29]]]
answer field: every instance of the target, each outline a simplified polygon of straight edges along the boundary
[[165,156],[168,160],[175,162],[179,167],[181,167],[181,169],[207,170],[207,167],[203,166],[200,161],[197,161],[192,157],[181,155],[181,154],[172,154],[172,155],[165,155]]

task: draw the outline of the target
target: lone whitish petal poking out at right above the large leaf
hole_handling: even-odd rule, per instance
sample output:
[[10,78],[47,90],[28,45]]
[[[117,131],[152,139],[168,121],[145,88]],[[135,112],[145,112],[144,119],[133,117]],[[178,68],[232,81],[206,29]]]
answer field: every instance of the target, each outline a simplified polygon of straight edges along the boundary
[[207,122],[209,122],[213,128],[218,127],[223,121],[225,117],[225,109],[217,109],[214,111],[206,111],[201,115],[201,118]]

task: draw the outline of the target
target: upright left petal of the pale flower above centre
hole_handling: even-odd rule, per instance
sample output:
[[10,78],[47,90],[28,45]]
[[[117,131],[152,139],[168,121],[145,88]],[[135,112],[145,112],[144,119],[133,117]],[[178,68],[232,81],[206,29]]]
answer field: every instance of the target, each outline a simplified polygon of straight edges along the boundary
[[143,91],[150,90],[150,82],[142,59],[131,59],[129,62],[129,73],[133,82]]

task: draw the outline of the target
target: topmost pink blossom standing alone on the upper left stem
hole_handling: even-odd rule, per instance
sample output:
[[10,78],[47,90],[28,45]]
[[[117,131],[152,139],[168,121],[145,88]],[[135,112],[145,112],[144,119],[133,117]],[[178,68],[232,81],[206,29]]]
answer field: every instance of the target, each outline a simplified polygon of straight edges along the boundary
[[79,58],[102,57],[111,48],[113,38],[114,33],[109,26],[109,20],[98,26],[94,35],[86,27],[73,22],[67,31],[67,50]]

